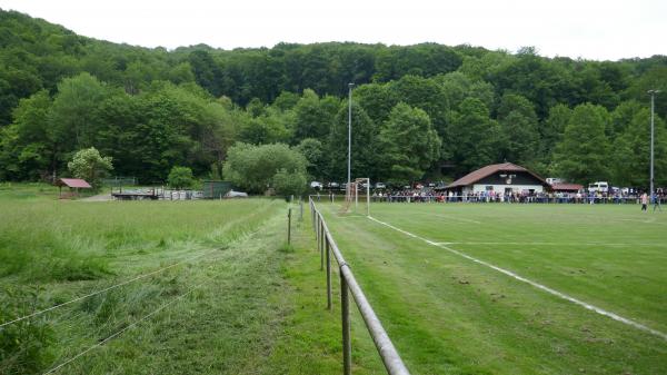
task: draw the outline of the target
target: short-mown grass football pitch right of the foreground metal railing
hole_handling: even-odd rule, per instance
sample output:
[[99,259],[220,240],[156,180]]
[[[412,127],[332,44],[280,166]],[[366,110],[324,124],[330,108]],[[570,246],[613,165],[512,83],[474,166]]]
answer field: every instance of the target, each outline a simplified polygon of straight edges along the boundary
[[371,204],[372,220],[318,207],[414,374],[667,373],[666,213]]

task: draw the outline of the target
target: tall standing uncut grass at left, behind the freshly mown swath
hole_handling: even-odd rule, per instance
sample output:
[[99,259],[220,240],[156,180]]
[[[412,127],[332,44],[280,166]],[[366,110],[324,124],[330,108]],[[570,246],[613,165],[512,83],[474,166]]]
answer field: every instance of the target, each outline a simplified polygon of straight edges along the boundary
[[256,229],[272,204],[2,199],[1,205],[0,277],[49,282],[115,274],[111,260],[131,254],[233,240]]

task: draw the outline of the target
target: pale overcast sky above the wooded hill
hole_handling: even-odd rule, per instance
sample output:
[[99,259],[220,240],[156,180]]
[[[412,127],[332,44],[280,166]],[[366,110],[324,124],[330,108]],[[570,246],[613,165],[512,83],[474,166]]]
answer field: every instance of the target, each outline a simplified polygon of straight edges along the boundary
[[430,41],[596,60],[667,55],[666,0],[0,0],[0,8],[169,49]]

